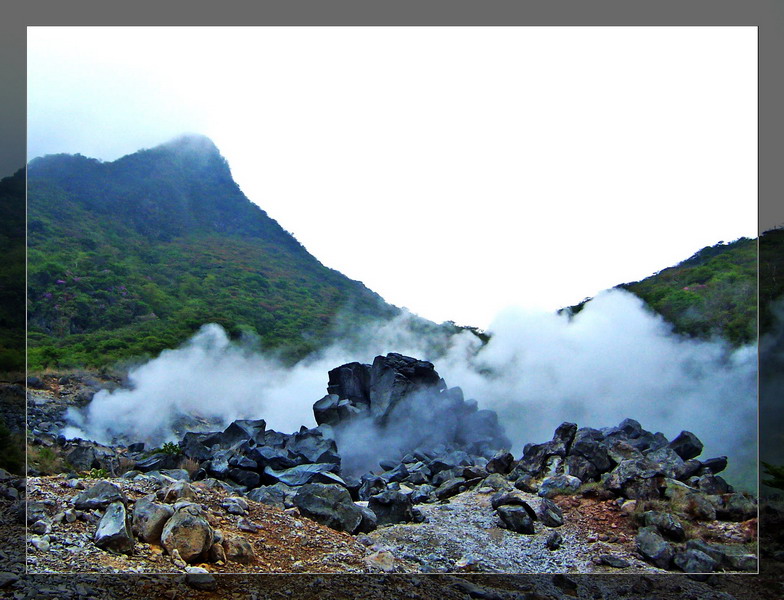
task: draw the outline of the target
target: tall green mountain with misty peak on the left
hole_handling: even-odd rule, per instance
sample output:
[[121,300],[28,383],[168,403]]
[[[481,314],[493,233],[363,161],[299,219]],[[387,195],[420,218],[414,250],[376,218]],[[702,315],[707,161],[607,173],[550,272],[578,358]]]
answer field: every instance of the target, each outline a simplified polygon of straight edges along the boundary
[[399,312],[308,253],[194,135],[113,162],[32,160],[28,297],[31,370],[154,355],[207,322],[294,359],[338,314]]

